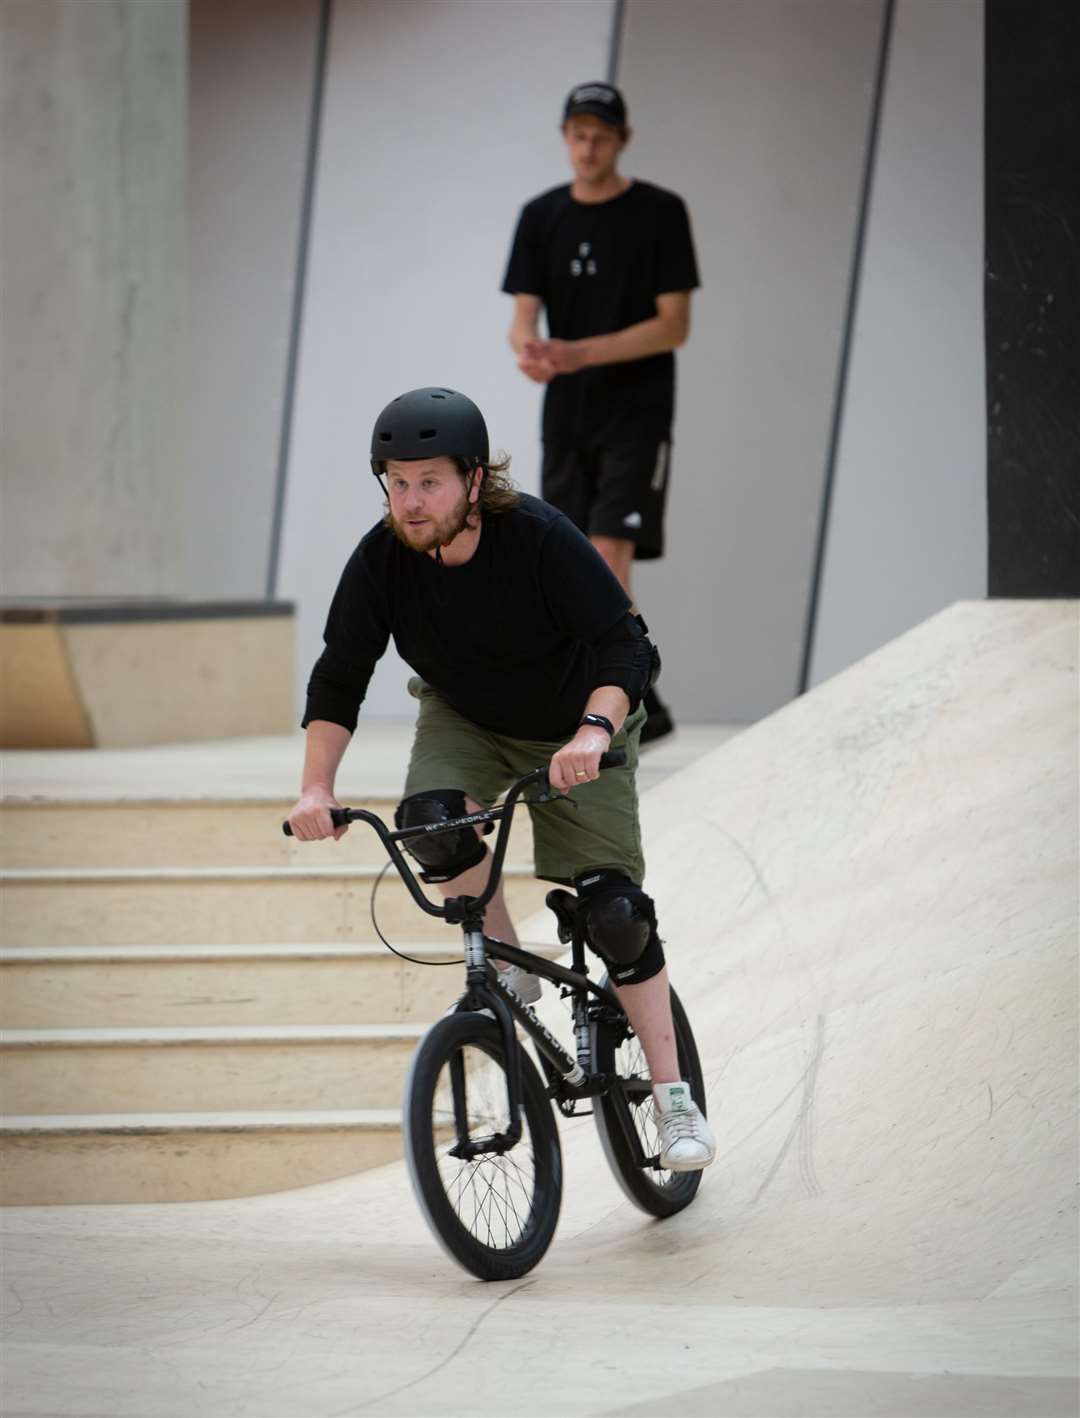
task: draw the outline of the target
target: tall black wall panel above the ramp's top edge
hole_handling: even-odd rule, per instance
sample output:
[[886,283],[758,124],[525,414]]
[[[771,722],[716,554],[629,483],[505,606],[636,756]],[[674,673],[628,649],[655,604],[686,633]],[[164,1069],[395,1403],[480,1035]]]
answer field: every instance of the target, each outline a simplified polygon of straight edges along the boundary
[[986,4],[991,596],[1080,596],[1080,7]]

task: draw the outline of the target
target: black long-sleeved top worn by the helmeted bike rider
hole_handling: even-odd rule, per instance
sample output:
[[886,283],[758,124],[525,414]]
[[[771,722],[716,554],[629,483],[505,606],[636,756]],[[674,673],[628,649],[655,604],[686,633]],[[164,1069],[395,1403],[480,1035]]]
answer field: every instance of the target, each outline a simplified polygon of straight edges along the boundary
[[342,573],[303,723],[354,729],[393,635],[401,658],[473,723],[514,739],[570,737],[598,685],[632,682],[617,668],[632,662],[632,638],[622,657],[611,645],[628,610],[597,550],[539,498],[485,515],[463,566],[411,552],[380,522]]

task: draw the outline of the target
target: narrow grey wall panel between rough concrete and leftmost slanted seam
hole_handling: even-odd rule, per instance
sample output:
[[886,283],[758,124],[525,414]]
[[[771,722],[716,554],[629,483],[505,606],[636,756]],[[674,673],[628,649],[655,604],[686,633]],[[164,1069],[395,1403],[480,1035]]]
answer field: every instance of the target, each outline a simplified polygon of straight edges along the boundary
[[190,0],[196,594],[266,586],[317,24],[319,0]]

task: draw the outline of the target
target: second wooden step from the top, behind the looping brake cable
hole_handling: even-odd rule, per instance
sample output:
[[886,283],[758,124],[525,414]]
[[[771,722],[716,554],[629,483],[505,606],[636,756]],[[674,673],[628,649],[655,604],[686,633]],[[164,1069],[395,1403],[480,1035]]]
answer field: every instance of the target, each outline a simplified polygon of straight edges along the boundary
[[[373,866],[33,868],[0,873],[3,939],[21,946],[247,944],[369,942]],[[524,919],[549,886],[506,866],[506,900]],[[438,900],[432,888],[429,898]],[[376,912],[390,940],[445,940],[395,872]]]

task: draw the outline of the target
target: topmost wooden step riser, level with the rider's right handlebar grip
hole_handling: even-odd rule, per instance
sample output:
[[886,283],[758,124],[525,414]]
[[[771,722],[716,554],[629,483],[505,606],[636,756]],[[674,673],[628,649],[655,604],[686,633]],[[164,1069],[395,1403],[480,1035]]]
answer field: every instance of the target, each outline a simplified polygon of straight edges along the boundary
[[[350,800],[394,824],[397,798]],[[356,822],[340,842],[298,842],[281,831],[292,800],[23,803],[0,808],[3,868],[381,866],[374,831]],[[529,813],[514,813],[507,861],[533,859]]]

